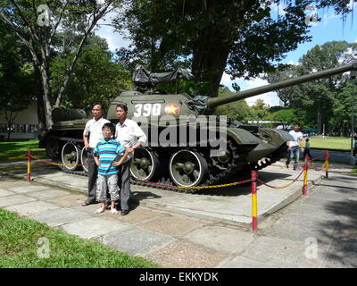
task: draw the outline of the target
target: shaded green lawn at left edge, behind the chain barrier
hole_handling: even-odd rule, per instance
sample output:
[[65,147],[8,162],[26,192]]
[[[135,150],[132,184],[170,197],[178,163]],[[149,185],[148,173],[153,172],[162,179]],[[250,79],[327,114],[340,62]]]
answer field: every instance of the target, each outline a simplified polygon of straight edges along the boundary
[[27,160],[27,157],[12,157],[27,154],[28,150],[31,150],[32,155],[38,156],[41,159],[45,159],[47,157],[46,150],[38,147],[38,140],[0,142],[0,163]]

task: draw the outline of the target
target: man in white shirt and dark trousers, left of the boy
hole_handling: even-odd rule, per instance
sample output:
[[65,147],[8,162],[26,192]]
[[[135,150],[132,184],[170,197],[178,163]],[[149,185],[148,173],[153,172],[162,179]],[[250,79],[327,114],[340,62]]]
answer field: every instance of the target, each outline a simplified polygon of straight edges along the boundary
[[88,155],[88,198],[82,204],[82,206],[88,206],[96,203],[96,178],[98,176],[97,166],[95,164],[95,158],[93,157],[93,150],[104,139],[102,127],[105,123],[110,123],[109,120],[104,119],[103,105],[95,102],[92,105],[93,119],[87,122],[86,128],[83,131],[84,146],[87,149]]

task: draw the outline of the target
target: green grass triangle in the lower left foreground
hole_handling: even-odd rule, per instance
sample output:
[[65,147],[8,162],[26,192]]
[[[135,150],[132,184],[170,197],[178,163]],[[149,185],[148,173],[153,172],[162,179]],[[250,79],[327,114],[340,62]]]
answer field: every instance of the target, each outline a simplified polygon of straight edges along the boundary
[[[42,251],[40,238],[49,241]],[[39,257],[37,253],[49,257]],[[156,268],[142,257],[80,239],[0,208],[0,268]]]

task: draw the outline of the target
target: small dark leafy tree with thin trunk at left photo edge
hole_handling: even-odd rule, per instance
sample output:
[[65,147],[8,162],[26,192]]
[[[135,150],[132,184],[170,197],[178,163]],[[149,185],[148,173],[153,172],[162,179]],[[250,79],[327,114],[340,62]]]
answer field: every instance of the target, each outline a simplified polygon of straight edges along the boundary
[[0,109],[4,111],[10,139],[17,113],[34,99],[35,82],[29,57],[21,55],[24,46],[1,22],[0,38]]

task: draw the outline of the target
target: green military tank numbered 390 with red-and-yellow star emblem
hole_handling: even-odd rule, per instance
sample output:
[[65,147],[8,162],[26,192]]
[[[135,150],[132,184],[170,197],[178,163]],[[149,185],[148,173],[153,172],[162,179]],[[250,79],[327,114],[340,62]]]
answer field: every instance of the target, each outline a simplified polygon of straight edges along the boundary
[[[189,71],[154,73],[137,66],[133,74],[137,89],[122,91],[115,97],[105,118],[116,124],[116,105],[124,103],[129,108],[128,118],[145,130],[145,146],[136,150],[130,166],[134,181],[166,189],[212,186],[239,172],[261,170],[273,164],[286,156],[286,141],[292,139],[285,130],[214,115],[214,107],[353,70],[357,70],[357,63],[225,97],[192,97],[155,89],[159,83],[170,80],[191,80]],[[84,111],[55,109],[54,125],[39,142],[52,160],[63,164],[65,172],[87,172],[82,134],[88,120]]]

